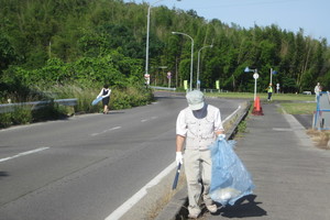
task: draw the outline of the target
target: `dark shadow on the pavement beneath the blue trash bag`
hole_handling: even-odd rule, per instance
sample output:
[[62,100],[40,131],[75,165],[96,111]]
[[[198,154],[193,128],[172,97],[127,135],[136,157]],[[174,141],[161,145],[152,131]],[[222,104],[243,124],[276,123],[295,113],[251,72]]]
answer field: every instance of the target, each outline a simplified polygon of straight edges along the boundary
[[[245,217],[263,217],[267,216],[267,212],[260,208],[257,205],[262,204],[260,201],[255,201],[255,195],[245,196],[234,204],[234,206],[226,206],[221,207],[216,213],[211,213],[212,216],[222,216],[227,218],[245,218]],[[220,205],[218,205],[220,207]]]

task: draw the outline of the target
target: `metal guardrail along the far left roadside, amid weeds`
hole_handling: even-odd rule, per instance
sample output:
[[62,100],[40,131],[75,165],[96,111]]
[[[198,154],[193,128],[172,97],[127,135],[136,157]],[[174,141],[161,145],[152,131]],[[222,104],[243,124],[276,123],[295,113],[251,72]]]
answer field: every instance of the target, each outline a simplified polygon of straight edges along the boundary
[[31,107],[32,110],[41,109],[47,105],[55,102],[63,106],[77,106],[78,99],[55,99],[46,101],[31,101],[31,102],[21,102],[21,103],[2,103],[0,105],[0,113],[13,112],[18,108]]

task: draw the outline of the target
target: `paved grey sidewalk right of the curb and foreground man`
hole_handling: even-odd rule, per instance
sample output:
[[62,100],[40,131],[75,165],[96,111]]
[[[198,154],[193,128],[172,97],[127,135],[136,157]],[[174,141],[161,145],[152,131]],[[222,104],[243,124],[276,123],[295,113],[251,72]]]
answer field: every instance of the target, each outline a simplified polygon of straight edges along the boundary
[[237,153],[250,170],[254,194],[199,219],[329,220],[330,151],[318,150],[306,129],[275,103],[249,116]]

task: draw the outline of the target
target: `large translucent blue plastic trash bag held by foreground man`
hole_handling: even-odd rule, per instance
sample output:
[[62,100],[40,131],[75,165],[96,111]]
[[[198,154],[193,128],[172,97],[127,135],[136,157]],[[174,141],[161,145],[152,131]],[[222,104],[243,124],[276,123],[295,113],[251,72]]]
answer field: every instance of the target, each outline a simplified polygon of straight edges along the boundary
[[212,174],[210,196],[222,206],[231,205],[243,196],[252,194],[254,185],[250,173],[235,154],[234,141],[219,141],[210,147]]

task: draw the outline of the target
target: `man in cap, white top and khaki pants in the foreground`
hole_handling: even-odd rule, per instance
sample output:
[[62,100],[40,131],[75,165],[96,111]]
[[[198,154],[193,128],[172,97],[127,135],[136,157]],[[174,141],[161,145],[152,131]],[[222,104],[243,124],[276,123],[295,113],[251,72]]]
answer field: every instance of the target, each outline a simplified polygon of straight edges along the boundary
[[179,112],[176,121],[176,163],[185,162],[189,218],[198,218],[201,212],[198,205],[200,196],[210,212],[218,210],[209,196],[212,166],[209,146],[217,136],[222,140],[226,134],[220,110],[205,103],[201,91],[190,91],[186,98],[188,107]]

